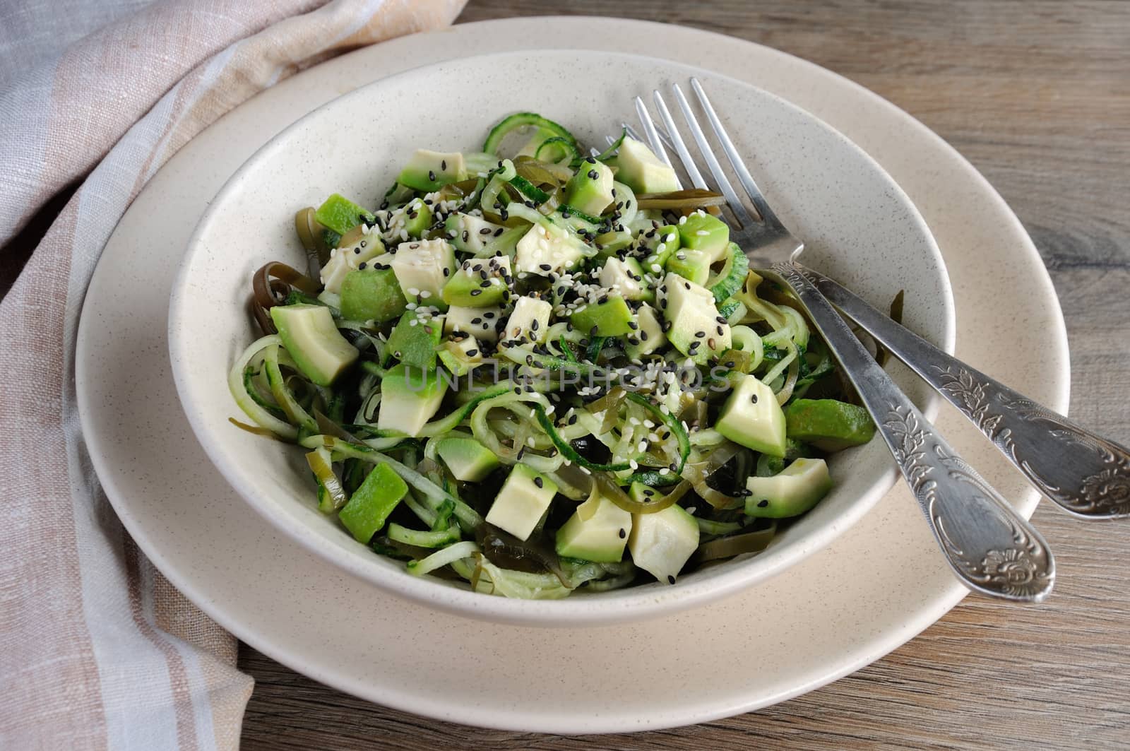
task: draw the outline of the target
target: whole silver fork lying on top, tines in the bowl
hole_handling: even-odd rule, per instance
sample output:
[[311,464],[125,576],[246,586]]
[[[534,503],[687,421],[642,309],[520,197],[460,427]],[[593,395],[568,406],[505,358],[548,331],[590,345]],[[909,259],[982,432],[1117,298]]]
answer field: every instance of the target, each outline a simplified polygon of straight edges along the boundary
[[[759,267],[758,273],[786,284],[805,307],[871,414],[954,573],[970,589],[992,597],[1020,602],[1045,598],[1055,578],[1055,561],[1048,543],[950,448],[890,380],[817,287],[824,277],[810,277],[811,273],[797,262],[805,243],[789,232],[770,208],[702,85],[692,78],[690,86],[757,214],[751,214],[739,199],[690,103],[683,89],[673,85],[675,100],[690,135],[733,214],[734,221],[728,222],[731,240],[746,251],[753,265]],[[655,90],[653,98],[667,144],[678,155],[694,185],[709,188],[662,94]],[[664,139],[643,100],[635,97],[635,106],[652,150],[672,166]]]

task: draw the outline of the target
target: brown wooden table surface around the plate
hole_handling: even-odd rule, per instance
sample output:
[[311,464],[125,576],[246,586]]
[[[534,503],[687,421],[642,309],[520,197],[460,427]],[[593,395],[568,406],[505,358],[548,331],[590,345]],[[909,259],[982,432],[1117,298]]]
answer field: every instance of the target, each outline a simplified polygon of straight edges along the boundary
[[[540,14],[698,26],[807,58],[879,93],[968,157],[1051,271],[1071,414],[1130,442],[1130,2],[471,0],[461,21]],[[1034,517],[1051,601],[967,598],[910,644],[798,699],[694,727],[554,737],[434,722],[322,687],[243,647],[244,748],[1130,748],[1130,524]]]

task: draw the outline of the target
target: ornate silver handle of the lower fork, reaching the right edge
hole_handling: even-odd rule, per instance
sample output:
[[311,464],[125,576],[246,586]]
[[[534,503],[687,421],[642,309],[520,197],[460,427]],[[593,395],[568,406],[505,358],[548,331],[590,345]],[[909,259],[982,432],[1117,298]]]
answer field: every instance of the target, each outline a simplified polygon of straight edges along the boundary
[[832,279],[803,273],[968,417],[1044,495],[1087,519],[1130,516],[1130,450],[947,355]]

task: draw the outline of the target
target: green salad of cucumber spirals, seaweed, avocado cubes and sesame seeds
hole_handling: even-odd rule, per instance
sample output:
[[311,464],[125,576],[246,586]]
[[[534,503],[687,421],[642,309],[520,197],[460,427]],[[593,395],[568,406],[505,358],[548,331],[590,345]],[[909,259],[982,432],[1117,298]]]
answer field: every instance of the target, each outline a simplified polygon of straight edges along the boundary
[[626,135],[505,118],[415,152],[370,209],[303,208],[252,279],[229,387],[311,497],[414,575],[557,598],[764,550],[873,434],[705,190]]

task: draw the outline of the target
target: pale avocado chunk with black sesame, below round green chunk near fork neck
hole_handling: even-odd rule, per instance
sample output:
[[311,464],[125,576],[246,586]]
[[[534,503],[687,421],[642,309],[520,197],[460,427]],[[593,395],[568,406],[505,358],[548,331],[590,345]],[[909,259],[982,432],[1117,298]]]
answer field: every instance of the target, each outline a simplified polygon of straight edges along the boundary
[[709,290],[668,273],[657,297],[670,323],[667,338],[696,364],[704,365],[730,348],[730,325],[719,314]]

